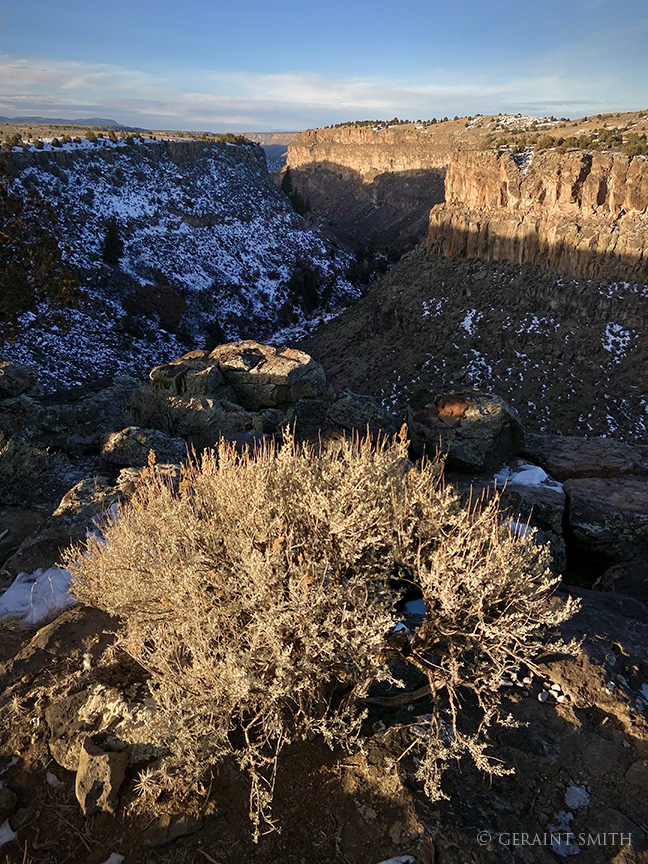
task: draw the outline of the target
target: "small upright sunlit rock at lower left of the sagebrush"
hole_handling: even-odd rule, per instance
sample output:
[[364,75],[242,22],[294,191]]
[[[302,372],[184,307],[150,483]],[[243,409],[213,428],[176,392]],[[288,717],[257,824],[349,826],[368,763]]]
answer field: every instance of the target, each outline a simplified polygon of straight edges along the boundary
[[84,816],[103,810],[115,813],[119,787],[126,776],[128,756],[97,747],[90,737],[81,746],[75,794]]

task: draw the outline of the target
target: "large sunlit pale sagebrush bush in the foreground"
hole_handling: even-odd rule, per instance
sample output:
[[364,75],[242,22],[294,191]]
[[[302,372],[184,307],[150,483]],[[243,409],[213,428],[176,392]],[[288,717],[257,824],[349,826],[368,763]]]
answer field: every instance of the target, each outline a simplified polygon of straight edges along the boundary
[[[152,732],[170,755],[141,791],[177,790],[234,757],[251,779],[258,836],[282,749],[314,734],[356,741],[361,700],[375,681],[395,683],[399,650],[434,702],[421,743],[428,793],[464,753],[500,770],[485,752],[497,688],[571,607],[548,603],[546,550],[512,533],[495,503],[463,507],[442,467],[413,467],[403,430],[317,452],[288,436],[243,456],[221,442],[177,491],[143,473],[105,541],[68,557],[77,597],[122,617],[122,647],[151,676]],[[393,635],[395,573],[420,584],[427,607],[405,648]],[[460,716],[469,692],[476,726]]]

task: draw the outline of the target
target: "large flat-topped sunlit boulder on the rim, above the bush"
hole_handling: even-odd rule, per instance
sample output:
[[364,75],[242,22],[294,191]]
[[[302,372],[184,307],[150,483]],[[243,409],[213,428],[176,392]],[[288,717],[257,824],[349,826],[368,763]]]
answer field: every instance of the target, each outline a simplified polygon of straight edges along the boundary
[[249,411],[287,408],[300,399],[331,399],[333,391],[322,366],[294,348],[259,342],[219,345],[209,355],[218,363],[236,401]]

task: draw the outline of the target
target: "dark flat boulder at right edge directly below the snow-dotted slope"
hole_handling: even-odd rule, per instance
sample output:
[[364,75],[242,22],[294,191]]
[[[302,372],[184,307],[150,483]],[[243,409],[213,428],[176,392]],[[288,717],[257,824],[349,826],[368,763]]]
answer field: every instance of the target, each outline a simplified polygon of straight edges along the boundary
[[527,435],[524,455],[556,480],[648,475],[648,446],[611,438],[575,435]]

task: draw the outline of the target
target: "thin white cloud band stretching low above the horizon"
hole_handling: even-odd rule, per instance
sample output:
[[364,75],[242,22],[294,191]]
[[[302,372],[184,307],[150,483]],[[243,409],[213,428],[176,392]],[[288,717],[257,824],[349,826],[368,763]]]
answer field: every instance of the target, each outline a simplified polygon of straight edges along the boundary
[[[637,93],[608,77],[545,74],[496,83],[431,72],[429,80],[332,78],[313,72],[251,74],[180,72],[164,75],[110,64],[28,60],[0,56],[0,110],[47,111],[63,116],[110,116],[146,127],[262,129],[305,128],[341,120],[395,115],[428,118],[454,114],[530,111],[591,112],[593,106],[640,107]],[[196,87],[200,82],[200,88]],[[625,103],[618,101],[620,92]],[[614,99],[617,101],[614,101]],[[633,99],[635,103],[633,104]]]

